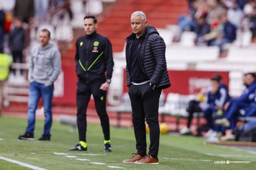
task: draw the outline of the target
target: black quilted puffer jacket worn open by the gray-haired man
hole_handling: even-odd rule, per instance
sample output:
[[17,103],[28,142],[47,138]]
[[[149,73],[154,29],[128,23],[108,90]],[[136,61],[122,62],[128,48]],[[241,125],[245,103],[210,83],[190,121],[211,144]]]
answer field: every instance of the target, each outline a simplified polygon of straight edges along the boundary
[[[171,86],[167,66],[165,59],[165,43],[156,28],[148,25],[145,29],[144,39],[139,44],[139,51],[142,51],[142,58],[139,58],[140,66],[145,75],[148,76],[149,82],[156,85],[156,88],[168,88]],[[130,54],[131,46],[135,34],[131,33],[130,36],[126,37],[126,82],[127,86],[131,85],[131,65],[130,65]]]

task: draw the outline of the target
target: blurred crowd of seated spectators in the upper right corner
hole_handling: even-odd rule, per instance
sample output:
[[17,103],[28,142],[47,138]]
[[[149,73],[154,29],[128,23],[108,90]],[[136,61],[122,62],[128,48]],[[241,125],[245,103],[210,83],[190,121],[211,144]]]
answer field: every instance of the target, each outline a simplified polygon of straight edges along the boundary
[[182,31],[193,31],[196,45],[232,43],[237,31],[256,37],[256,0],[189,0],[189,14],[178,21]]

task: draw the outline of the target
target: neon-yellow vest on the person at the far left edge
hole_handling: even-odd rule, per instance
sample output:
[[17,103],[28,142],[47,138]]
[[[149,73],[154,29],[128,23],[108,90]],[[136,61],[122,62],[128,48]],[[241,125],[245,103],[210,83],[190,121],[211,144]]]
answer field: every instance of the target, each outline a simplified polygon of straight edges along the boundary
[[0,81],[6,80],[9,75],[12,56],[0,53]]

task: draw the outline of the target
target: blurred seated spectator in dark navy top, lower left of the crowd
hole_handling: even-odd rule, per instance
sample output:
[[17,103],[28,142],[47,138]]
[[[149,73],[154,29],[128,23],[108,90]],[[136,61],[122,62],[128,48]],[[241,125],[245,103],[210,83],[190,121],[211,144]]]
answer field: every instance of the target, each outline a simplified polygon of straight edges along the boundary
[[196,22],[192,25],[191,31],[194,31],[197,34],[196,44],[207,44],[204,41],[204,35],[210,32],[210,26],[205,20],[205,16],[199,17]]

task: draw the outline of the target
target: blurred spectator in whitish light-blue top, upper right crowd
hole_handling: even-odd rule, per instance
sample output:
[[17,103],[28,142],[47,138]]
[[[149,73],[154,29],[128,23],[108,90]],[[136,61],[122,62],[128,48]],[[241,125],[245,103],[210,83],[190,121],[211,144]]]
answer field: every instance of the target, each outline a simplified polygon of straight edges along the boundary
[[238,7],[237,1],[232,1],[231,8],[228,9],[227,17],[237,29],[240,28],[244,17],[243,11]]

